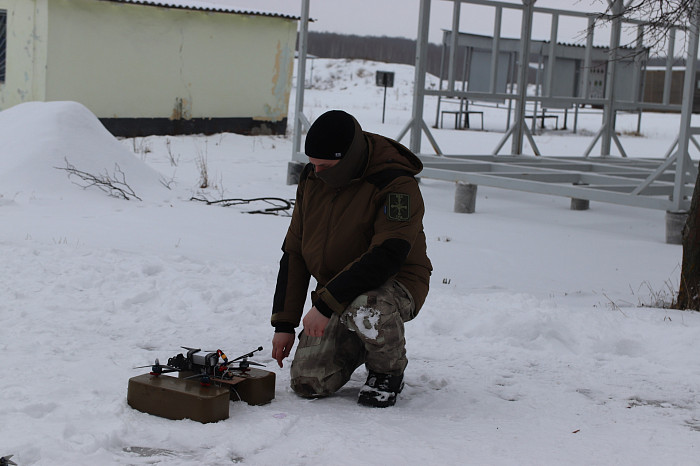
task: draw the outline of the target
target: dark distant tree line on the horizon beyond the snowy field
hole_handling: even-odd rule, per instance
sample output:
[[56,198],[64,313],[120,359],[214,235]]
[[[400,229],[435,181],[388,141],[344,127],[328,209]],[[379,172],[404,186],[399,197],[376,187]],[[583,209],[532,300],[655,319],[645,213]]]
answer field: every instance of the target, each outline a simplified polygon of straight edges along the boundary
[[[416,41],[401,37],[375,37],[309,32],[307,53],[319,58],[350,58],[384,63],[416,64]],[[440,74],[442,47],[428,44],[428,73]]]

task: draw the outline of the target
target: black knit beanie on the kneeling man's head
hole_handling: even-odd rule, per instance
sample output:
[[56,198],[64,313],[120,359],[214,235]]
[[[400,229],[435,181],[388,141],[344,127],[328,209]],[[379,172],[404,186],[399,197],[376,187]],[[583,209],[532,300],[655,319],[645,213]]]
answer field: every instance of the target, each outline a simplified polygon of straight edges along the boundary
[[342,110],[331,110],[314,121],[306,134],[306,155],[315,159],[340,160],[347,154],[355,135],[362,128],[355,118]]

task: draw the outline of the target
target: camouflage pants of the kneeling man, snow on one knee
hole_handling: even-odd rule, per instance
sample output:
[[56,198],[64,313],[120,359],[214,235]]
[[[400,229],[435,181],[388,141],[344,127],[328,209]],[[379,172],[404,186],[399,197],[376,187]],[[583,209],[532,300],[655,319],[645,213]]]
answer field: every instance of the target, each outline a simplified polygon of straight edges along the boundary
[[404,322],[415,317],[415,309],[408,290],[392,279],[333,314],[322,337],[301,332],[292,389],[306,397],[330,395],[363,363],[382,374],[402,374],[408,364]]

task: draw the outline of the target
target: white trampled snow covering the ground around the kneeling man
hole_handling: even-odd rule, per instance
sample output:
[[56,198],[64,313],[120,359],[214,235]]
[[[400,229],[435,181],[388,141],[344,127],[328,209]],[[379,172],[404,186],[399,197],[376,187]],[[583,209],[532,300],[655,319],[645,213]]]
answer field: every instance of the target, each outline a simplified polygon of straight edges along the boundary
[[[376,70],[396,72],[384,124]],[[390,137],[410,119],[410,66],[315,60],[312,76],[309,119],[341,108]],[[506,113],[483,109],[486,131],[433,130],[443,151],[491,152]],[[434,115],[428,99],[429,124]],[[577,134],[549,129],[536,141],[548,155],[581,155],[600,122],[589,112]],[[678,124],[645,114],[635,136],[636,115],[622,115],[617,128],[629,154],[660,157]],[[700,314],[664,308],[682,253],[665,243],[664,212],[596,202],[572,211],[569,199],[479,187],[476,213],[456,214],[454,185],[423,178],[431,290],[406,327],[397,405],[369,409],[356,403],[364,369],[335,396],[308,401],[289,389],[289,361],[280,369],[271,358],[289,219],[190,200],[293,198],[291,137],[116,141],[81,105],[53,102],[1,112],[0,140],[0,456],[20,465],[700,463]],[[142,201],[81,188],[66,160],[91,173],[120,167]],[[264,346],[255,360],[276,373],[276,398],[232,402],[228,420],[206,425],[131,409],[128,380],[144,372],[133,368],[181,345],[229,357]]]

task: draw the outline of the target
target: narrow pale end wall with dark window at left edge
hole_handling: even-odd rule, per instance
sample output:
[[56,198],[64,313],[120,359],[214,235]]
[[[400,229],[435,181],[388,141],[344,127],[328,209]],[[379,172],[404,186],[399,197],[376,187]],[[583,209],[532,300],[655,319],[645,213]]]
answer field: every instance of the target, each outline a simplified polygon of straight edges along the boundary
[[47,50],[47,0],[0,0],[7,11],[5,82],[0,110],[44,100]]

